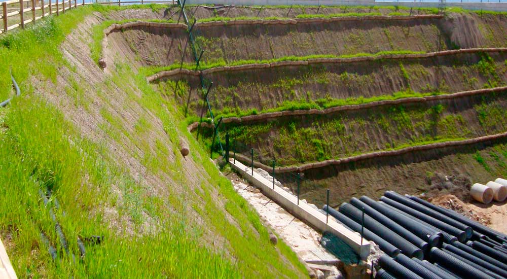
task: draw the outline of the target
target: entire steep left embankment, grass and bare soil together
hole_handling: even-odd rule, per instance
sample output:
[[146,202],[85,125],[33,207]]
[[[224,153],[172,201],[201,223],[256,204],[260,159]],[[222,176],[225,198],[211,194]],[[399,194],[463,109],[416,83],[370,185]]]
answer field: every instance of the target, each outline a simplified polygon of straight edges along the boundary
[[[104,74],[95,64],[93,26],[106,14],[80,8],[0,38],[2,64],[13,65],[23,94],[0,112],[0,236],[18,275],[305,276],[282,241],[270,244],[176,103],[135,65],[117,61]],[[68,245],[40,199],[48,189]],[[78,238],[86,254],[73,260]]]

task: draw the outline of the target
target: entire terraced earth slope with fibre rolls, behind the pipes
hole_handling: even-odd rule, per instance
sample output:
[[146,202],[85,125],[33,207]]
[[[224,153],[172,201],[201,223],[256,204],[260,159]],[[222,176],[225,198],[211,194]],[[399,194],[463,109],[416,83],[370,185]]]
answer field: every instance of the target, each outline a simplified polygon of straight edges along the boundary
[[[221,151],[228,132],[241,160],[254,149],[295,191],[301,172],[302,198],[322,204],[329,188],[338,205],[387,189],[420,194],[437,172],[507,175],[507,19],[436,12],[195,7],[195,54],[186,26],[137,22],[109,30],[100,57],[137,55],[188,124],[205,122],[189,128],[207,148]],[[177,55],[155,51],[168,44]],[[216,137],[210,110],[214,124],[223,118]]]

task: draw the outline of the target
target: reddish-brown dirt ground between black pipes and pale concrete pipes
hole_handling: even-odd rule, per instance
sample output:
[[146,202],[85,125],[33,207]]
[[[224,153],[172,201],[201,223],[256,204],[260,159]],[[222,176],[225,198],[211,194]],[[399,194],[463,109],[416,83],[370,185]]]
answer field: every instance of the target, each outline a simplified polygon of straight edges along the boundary
[[428,200],[433,204],[461,213],[501,233],[507,233],[507,222],[505,222],[507,200],[483,204],[477,201],[463,202],[454,195],[444,195]]

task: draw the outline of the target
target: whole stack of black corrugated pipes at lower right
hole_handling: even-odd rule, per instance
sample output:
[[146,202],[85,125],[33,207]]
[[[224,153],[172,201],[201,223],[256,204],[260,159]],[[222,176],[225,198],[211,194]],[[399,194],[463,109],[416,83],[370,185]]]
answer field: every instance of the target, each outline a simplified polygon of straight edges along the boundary
[[507,278],[507,236],[415,196],[387,191],[324,211],[385,253],[377,278]]

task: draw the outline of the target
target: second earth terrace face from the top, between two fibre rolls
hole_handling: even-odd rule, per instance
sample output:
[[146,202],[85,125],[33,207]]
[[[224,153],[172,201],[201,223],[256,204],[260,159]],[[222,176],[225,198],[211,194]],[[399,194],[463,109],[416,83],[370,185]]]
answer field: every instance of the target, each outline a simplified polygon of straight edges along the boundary
[[[216,67],[202,71],[213,81],[208,99],[216,112],[224,109],[258,112],[281,106],[284,101],[316,101],[321,98],[358,98],[415,92],[468,91],[502,86],[507,77],[507,49],[469,49],[427,54],[380,57],[321,58],[269,64]],[[465,53],[470,51],[470,53]],[[473,52],[471,52],[473,51]],[[497,76],[485,73],[478,62],[487,53]],[[404,73],[404,71],[406,71]],[[190,111],[200,115],[199,73],[175,69],[148,77],[149,81],[170,79],[187,84]],[[491,82],[496,84],[491,84]],[[161,86],[164,86],[163,83]],[[182,106],[188,93],[176,96]]]

